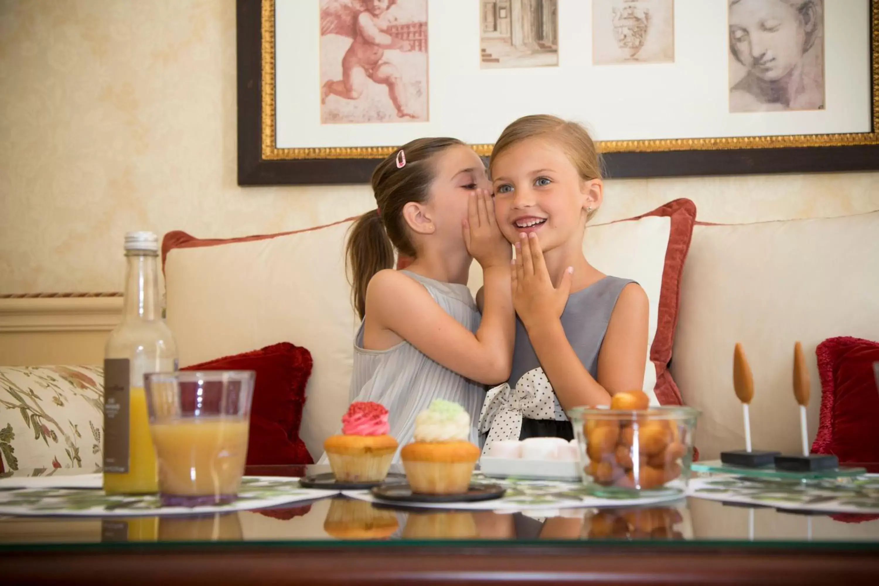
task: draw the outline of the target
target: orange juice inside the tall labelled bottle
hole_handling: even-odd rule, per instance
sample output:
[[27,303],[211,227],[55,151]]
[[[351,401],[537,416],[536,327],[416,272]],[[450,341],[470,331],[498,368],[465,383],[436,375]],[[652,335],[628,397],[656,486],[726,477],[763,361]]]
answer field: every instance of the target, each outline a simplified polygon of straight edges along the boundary
[[104,490],[107,494],[150,494],[158,489],[156,478],[156,452],[153,438],[149,436],[147,395],[143,387],[129,390],[127,473],[104,474]]

